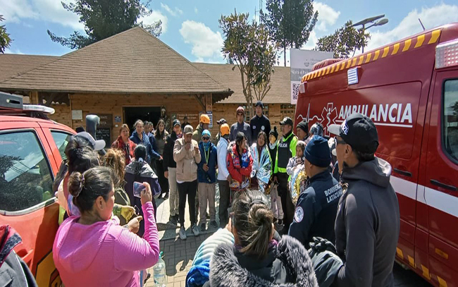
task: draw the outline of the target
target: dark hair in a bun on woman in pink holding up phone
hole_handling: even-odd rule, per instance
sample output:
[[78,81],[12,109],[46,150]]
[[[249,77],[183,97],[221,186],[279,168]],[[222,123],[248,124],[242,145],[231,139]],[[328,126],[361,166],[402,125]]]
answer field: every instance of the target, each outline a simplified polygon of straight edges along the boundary
[[92,210],[97,197],[109,199],[109,193],[113,190],[113,171],[105,166],[97,166],[88,169],[84,173],[78,171],[70,174],[68,180],[68,192],[73,195],[73,203],[80,212]]

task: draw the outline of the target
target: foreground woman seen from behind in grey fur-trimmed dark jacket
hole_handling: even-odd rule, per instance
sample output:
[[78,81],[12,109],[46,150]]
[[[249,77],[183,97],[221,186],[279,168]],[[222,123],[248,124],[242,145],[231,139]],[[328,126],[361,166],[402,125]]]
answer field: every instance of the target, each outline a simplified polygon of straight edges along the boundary
[[223,243],[214,250],[204,286],[318,287],[304,246],[290,236],[273,239],[273,214],[263,193],[241,191],[227,228],[235,244]]

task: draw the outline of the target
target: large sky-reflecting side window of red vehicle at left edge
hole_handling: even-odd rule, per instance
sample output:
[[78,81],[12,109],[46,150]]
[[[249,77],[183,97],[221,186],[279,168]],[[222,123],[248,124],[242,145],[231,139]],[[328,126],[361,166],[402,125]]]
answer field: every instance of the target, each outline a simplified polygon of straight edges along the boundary
[[49,200],[52,181],[35,133],[0,134],[0,210],[17,212]]

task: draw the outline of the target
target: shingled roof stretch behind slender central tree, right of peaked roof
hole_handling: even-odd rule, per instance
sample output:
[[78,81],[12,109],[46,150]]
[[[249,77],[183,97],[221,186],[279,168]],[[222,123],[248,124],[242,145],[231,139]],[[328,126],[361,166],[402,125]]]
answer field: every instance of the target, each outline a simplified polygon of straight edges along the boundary
[[[222,104],[245,103],[245,95],[242,89],[240,71],[235,65],[220,63],[193,63],[194,66],[204,71],[211,78],[217,80],[225,87],[230,87],[234,93],[221,101]],[[233,70],[234,68],[234,70]],[[289,104],[291,99],[290,67],[275,67],[275,73],[271,77],[272,87],[264,97],[264,104]]]

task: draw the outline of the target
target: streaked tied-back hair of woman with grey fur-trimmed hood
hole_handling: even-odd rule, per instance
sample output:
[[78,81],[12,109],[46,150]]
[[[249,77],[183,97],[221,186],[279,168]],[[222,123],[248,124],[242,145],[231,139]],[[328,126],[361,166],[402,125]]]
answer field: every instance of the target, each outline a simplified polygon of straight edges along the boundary
[[259,190],[243,190],[233,203],[233,226],[242,252],[264,258],[273,233],[269,200]]

